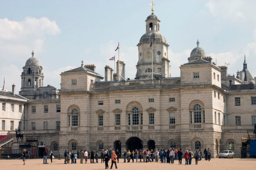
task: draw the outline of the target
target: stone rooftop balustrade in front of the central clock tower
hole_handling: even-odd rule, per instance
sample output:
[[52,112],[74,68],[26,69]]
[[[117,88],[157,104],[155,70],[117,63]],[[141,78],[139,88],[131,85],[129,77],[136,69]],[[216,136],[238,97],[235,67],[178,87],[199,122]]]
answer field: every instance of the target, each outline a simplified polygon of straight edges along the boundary
[[124,82],[96,82],[92,88],[110,88],[120,86],[144,86],[144,85],[177,85],[180,84],[180,78],[167,78],[163,80],[128,80]]

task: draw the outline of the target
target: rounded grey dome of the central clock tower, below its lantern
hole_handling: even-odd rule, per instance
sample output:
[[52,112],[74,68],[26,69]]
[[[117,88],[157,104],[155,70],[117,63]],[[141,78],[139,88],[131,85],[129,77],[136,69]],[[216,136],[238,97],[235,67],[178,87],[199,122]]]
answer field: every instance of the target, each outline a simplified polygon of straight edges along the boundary
[[159,32],[145,33],[140,38],[140,43],[150,43],[151,40],[153,40],[153,42],[156,42],[156,43],[166,43],[166,39]]

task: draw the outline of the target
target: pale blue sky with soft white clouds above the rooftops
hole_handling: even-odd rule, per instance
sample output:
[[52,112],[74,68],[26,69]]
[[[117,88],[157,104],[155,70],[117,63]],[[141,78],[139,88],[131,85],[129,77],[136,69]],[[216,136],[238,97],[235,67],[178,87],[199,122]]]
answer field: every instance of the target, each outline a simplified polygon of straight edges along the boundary
[[[22,67],[34,50],[43,67],[44,86],[60,89],[60,73],[84,64],[104,67],[118,51],[126,64],[126,78],[133,79],[140,37],[151,14],[149,0],[0,0],[0,86],[20,90]],[[248,70],[256,76],[256,1],[252,0],[154,0],[160,33],[168,45],[172,77],[200,47],[217,61],[229,64],[228,73]]]

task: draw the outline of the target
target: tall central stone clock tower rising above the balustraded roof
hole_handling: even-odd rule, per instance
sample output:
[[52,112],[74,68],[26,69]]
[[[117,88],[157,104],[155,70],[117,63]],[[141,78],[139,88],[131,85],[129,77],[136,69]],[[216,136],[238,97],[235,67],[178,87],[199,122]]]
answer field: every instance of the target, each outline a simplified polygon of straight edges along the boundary
[[[139,60],[136,65],[136,79],[151,78],[151,72],[153,72],[154,78],[170,77],[170,61],[168,59],[169,45],[159,31],[159,23],[159,18],[154,15],[153,12],[146,19],[146,33],[142,35],[140,43],[137,45]],[[152,46],[150,47],[151,42]]]

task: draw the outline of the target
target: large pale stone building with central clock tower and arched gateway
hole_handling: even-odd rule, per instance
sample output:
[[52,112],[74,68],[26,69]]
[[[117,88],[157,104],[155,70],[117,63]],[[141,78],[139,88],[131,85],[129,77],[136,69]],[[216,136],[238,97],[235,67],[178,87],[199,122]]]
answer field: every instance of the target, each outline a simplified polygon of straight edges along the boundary
[[[24,133],[41,134],[39,146],[61,155],[65,149],[181,147],[210,148],[212,157],[230,149],[239,157],[241,138],[247,131],[252,135],[256,123],[255,79],[245,60],[243,72],[230,76],[227,67],[212,62],[197,41],[180,66],[180,77],[172,78],[159,23],[154,13],[146,19],[135,80],[118,81],[109,66],[102,76],[93,64],[82,63],[60,74],[57,90],[41,84],[42,66],[32,53],[23,67],[20,91],[29,99]],[[31,74],[36,79],[31,80]]]

